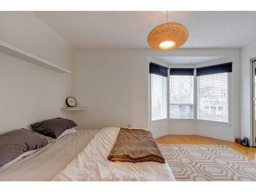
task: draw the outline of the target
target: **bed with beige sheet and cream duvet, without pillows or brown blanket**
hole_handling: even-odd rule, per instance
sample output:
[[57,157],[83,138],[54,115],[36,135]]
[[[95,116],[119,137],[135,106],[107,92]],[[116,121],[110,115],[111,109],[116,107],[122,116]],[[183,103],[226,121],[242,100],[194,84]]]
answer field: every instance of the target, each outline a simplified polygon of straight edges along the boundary
[[0,181],[175,181],[167,163],[109,161],[119,130],[78,130],[1,168]]

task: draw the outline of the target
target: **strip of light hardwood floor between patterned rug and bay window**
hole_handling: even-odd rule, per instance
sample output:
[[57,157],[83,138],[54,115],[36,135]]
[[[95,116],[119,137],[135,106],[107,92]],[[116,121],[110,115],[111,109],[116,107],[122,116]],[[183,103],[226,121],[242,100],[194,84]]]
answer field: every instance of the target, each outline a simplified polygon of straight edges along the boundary
[[256,161],[256,148],[246,147],[235,142],[213,139],[199,135],[166,135],[156,138],[156,141],[157,143],[170,144],[223,144]]

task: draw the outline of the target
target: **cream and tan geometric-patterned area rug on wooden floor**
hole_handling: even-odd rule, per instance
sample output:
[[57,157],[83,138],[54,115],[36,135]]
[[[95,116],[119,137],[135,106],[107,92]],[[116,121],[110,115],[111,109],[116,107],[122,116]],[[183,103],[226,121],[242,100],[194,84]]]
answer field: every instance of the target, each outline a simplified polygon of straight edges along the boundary
[[256,181],[256,162],[226,145],[158,146],[176,181]]

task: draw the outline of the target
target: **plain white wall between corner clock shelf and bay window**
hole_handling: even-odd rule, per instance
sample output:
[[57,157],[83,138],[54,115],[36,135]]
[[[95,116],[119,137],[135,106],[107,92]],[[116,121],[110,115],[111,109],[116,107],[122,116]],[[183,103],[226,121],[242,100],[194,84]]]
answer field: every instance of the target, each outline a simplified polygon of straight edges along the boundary
[[73,95],[78,105],[88,106],[72,113],[80,127],[147,127],[147,56],[141,54],[122,49],[75,51]]

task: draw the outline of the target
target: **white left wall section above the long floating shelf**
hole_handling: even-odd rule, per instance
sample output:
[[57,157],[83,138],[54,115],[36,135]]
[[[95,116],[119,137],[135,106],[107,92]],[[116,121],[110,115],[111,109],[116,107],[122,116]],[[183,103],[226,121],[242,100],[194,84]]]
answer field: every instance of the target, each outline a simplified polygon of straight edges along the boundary
[[63,68],[71,69],[73,47],[32,12],[0,12],[0,39]]

